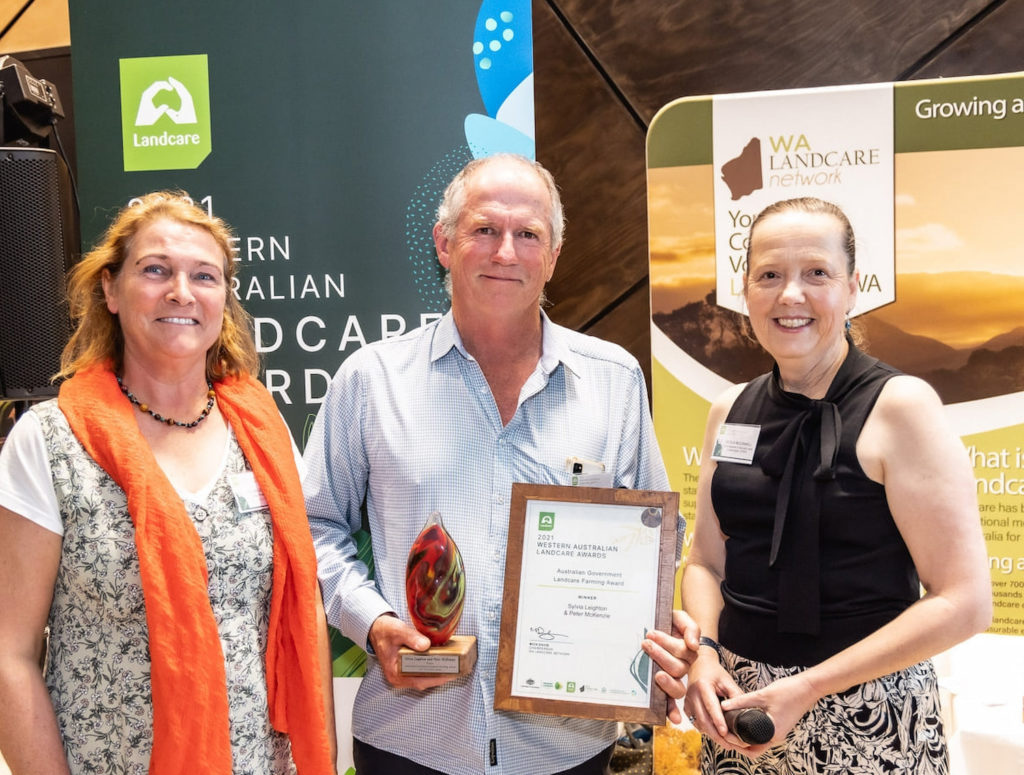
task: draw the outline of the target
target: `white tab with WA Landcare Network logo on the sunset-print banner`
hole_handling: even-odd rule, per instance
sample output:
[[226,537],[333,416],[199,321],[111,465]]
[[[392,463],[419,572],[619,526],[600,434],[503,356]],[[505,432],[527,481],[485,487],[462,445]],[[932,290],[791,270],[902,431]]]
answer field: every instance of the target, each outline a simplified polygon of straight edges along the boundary
[[[893,204],[892,85],[723,95],[712,112],[719,305],[744,311],[751,221],[797,196],[830,200],[850,218],[863,277],[855,312],[892,302],[893,221],[877,217]],[[836,120],[844,115],[858,120]]]

